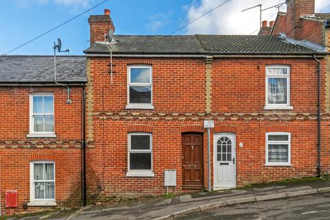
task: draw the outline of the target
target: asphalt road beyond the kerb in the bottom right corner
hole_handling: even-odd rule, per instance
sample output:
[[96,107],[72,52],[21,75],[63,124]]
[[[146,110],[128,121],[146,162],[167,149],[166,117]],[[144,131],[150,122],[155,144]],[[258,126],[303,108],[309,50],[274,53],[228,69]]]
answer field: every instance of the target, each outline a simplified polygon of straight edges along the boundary
[[330,193],[227,206],[180,220],[330,219]]

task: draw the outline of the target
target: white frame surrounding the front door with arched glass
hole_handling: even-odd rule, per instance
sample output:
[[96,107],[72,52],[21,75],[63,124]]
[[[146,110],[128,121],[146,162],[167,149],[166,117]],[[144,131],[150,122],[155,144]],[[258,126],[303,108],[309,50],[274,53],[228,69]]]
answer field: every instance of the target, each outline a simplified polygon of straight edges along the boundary
[[[222,136],[230,136],[232,140],[232,159],[234,158],[233,166],[233,184],[232,186],[217,186],[216,172],[217,172],[217,141]],[[233,163],[233,162],[232,162]],[[235,188],[236,187],[236,133],[214,133],[213,134],[213,189]]]

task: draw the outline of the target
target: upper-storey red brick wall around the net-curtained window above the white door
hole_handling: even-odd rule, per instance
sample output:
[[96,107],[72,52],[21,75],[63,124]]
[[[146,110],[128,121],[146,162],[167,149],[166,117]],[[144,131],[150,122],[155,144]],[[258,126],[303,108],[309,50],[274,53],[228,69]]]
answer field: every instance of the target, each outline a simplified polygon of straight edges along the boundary
[[212,66],[212,111],[219,113],[263,111],[266,66],[280,64],[289,65],[291,68],[290,90],[293,112],[316,113],[317,65],[311,58],[215,60]]

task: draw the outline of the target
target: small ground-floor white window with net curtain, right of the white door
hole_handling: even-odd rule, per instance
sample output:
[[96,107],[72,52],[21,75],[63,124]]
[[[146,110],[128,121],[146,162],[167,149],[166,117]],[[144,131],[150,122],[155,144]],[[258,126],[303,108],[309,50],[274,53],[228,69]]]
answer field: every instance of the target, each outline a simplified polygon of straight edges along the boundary
[[288,166],[291,164],[291,134],[266,133],[266,165]]

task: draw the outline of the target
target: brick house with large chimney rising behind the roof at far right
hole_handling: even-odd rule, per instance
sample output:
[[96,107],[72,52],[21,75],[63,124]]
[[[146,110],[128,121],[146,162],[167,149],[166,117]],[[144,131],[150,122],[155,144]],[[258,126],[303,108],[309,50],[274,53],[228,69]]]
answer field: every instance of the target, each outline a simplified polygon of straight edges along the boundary
[[[330,52],[330,12],[316,13],[315,0],[287,1],[287,12],[278,12],[273,25],[271,35]],[[330,56],[326,60],[325,110],[330,113]]]

